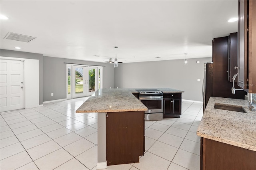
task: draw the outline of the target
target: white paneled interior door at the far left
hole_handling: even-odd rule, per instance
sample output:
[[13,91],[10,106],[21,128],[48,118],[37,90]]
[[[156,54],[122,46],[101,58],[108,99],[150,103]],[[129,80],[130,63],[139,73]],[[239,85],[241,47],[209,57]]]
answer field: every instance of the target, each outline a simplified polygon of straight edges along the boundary
[[24,108],[24,61],[0,61],[1,112]]

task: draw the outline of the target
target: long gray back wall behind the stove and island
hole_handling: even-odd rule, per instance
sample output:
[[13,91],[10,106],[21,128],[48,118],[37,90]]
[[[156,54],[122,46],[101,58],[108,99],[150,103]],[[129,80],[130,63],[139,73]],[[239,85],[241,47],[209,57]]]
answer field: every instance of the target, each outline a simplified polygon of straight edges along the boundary
[[184,59],[122,63],[115,68],[114,85],[115,88],[168,87],[185,91],[182,99],[203,101],[204,63],[210,61],[211,57],[188,59],[186,66]]

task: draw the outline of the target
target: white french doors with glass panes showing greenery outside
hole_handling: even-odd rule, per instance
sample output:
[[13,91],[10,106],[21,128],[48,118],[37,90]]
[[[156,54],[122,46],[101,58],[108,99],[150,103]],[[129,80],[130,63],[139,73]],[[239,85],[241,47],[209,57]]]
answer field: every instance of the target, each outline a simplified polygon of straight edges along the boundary
[[67,99],[92,95],[101,88],[102,67],[67,65]]

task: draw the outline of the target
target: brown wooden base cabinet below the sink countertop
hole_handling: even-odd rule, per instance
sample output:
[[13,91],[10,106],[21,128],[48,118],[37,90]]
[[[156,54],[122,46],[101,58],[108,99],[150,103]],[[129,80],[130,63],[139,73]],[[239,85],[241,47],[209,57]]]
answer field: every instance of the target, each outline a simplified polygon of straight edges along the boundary
[[256,152],[201,138],[200,170],[256,170]]

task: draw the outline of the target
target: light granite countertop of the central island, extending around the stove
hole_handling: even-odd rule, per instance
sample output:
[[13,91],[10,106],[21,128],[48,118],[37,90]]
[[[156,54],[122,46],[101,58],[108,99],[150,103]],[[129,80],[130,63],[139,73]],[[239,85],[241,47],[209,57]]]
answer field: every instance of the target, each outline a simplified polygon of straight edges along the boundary
[[[136,88],[142,89],[142,88]],[[85,101],[76,113],[91,112],[124,112],[147,111],[132,93],[139,93],[136,89],[98,89],[87,101]],[[183,93],[184,91],[171,88],[144,88],[157,89],[163,93]]]

